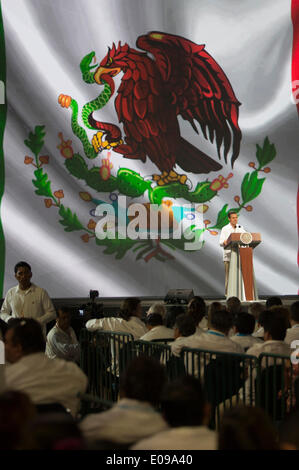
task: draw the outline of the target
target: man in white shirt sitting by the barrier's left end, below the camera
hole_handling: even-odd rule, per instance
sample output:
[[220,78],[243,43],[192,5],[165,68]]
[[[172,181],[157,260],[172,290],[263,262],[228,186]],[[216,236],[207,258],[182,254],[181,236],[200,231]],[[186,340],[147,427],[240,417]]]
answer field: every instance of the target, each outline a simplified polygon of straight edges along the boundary
[[71,309],[68,307],[57,310],[56,325],[47,335],[46,355],[50,359],[80,360],[80,344],[71,327]]

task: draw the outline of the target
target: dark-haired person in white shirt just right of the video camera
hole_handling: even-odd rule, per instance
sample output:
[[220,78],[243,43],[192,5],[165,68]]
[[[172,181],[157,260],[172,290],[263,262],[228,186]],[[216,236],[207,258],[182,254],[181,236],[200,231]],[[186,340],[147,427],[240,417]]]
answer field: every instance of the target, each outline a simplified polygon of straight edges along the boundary
[[118,317],[89,320],[85,326],[89,331],[103,330],[130,333],[134,336],[134,339],[139,339],[147,332],[141,316],[140,300],[130,297],[123,301]]

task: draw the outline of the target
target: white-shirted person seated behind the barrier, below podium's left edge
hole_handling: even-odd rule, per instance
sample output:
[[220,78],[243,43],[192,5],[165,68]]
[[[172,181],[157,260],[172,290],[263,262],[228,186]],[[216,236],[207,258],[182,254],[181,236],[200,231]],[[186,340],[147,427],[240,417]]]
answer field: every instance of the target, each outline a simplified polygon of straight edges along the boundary
[[243,354],[244,349],[228,337],[233,320],[226,310],[216,310],[210,315],[210,329],[198,337],[197,348]]

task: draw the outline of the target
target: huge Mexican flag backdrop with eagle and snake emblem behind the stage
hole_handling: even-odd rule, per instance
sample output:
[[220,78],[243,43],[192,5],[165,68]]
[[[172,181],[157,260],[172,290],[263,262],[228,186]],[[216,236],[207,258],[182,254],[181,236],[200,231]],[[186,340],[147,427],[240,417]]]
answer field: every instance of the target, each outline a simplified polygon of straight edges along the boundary
[[[1,0],[1,13],[3,293],[25,260],[52,297],[222,295],[235,209],[261,233],[259,294],[297,294],[298,0]],[[120,198],[148,219],[160,205],[171,230],[199,215],[201,249],[120,236]],[[102,204],[115,238],[97,236]],[[177,217],[186,204],[198,213]]]

